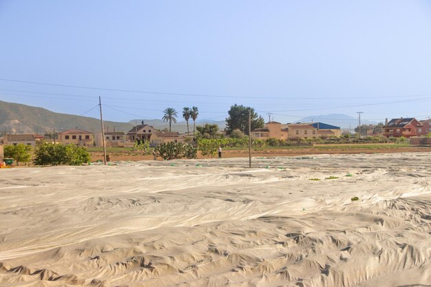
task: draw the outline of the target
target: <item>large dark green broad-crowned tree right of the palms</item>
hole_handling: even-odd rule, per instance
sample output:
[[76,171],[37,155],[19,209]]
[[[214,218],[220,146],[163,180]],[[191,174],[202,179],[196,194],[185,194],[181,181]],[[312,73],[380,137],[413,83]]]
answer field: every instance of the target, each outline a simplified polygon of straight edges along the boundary
[[251,129],[264,127],[264,118],[258,116],[252,107],[235,104],[229,109],[229,117],[226,118],[226,131],[228,135],[235,129],[239,129],[244,134],[249,135],[249,110],[251,110]]

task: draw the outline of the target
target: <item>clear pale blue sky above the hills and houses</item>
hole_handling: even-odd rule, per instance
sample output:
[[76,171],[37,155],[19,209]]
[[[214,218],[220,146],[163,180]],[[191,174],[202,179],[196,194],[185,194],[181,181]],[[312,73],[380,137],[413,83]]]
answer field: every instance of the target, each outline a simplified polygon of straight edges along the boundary
[[426,0],[0,0],[0,100],[98,118],[101,96],[121,122],[234,104],[281,123],[422,120],[430,31]]

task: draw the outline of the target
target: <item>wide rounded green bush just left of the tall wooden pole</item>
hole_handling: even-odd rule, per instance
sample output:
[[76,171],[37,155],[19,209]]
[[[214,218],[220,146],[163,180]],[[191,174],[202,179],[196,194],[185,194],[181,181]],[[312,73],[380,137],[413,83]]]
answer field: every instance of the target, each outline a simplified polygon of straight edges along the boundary
[[81,165],[90,161],[85,147],[45,142],[34,152],[34,164],[38,165]]

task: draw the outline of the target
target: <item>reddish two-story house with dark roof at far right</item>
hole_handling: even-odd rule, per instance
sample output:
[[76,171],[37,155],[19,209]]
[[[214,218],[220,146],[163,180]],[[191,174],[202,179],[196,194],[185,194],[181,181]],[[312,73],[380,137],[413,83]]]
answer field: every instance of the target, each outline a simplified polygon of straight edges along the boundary
[[392,118],[383,126],[383,136],[386,138],[410,138],[424,134],[423,125],[416,118]]

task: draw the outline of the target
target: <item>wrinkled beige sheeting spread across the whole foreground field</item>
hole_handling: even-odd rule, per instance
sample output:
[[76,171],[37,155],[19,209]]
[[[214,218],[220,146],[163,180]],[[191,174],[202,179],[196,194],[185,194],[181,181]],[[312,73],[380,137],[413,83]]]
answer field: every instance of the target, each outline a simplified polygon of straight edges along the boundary
[[431,286],[431,153],[247,167],[1,169],[0,286]]

